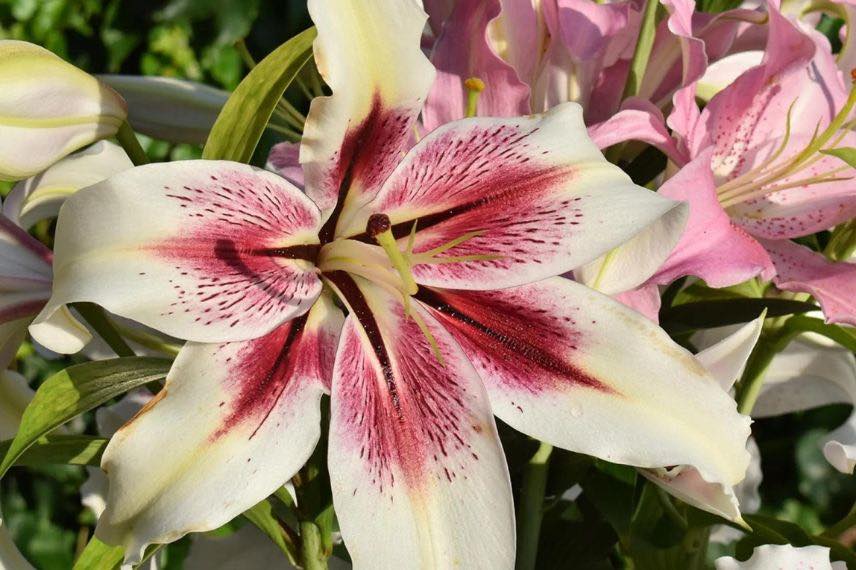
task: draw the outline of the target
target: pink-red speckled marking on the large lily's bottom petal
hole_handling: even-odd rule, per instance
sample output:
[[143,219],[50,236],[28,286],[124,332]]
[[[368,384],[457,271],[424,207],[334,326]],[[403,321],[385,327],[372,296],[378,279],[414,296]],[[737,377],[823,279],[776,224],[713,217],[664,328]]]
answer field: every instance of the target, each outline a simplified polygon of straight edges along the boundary
[[462,372],[469,364],[448,333],[435,325],[431,328],[444,357],[442,366],[400,305],[396,330],[382,334],[351,278],[336,273],[329,277],[354,309],[333,380],[337,430],[364,461],[372,485],[384,493],[400,482],[397,473],[409,487],[432,477],[447,482],[467,477],[467,465],[478,460],[468,442],[485,429],[471,411],[473,394],[461,382],[467,374],[475,377],[472,370]]

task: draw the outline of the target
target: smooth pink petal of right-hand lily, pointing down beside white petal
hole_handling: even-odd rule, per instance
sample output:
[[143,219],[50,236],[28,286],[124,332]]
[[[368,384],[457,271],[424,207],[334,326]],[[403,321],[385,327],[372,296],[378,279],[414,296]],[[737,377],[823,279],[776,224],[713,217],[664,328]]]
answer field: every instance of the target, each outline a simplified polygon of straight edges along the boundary
[[711,152],[702,153],[674,177],[659,193],[690,204],[687,229],[652,283],[667,284],[684,275],[694,275],[711,287],[727,287],[762,275],[769,279],[773,267],[764,248],[735,226],[719,205]]

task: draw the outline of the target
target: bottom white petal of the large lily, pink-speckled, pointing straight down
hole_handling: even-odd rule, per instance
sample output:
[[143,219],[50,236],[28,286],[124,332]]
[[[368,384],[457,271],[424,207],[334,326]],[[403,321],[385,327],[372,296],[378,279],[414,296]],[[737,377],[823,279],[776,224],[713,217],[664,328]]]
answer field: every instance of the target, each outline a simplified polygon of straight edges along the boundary
[[[421,306],[344,272],[330,478],[356,567],[508,568],[514,512],[484,387]],[[424,326],[424,329],[422,326]]]

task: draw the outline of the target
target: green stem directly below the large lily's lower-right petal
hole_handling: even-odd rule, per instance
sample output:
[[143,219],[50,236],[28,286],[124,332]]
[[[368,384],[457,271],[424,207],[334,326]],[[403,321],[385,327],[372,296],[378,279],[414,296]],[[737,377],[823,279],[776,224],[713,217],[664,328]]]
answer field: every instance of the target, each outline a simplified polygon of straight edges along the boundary
[[552,453],[553,446],[541,442],[523,473],[517,529],[517,570],[533,570],[538,558],[538,539],[541,536],[541,519],[544,517],[544,491],[547,488]]

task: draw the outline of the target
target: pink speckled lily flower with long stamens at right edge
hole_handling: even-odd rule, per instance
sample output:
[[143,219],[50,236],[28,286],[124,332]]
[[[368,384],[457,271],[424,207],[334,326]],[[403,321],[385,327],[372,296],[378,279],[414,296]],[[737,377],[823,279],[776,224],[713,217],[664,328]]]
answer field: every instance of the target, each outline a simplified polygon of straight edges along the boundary
[[[682,275],[714,287],[754,276],[814,295],[831,322],[856,323],[856,272],[788,241],[856,216],[856,171],[820,151],[853,145],[856,95],[826,39],[771,6],[763,60],[696,107],[693,88],[669,117],[691,162],[659,193],[690,204],[687,230],[643,288]],[[639,292],[637,301],[648,299]]]

